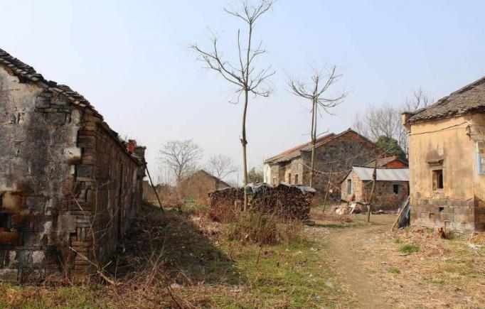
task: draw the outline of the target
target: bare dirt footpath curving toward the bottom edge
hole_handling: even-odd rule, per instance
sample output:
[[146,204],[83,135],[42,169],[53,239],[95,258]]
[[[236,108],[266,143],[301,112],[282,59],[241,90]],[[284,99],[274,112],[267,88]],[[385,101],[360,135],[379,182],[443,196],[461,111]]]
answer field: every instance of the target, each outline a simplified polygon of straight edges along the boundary
[[371,267],[371,264],[381,263],[380,256],[378,252],[366,250],[366,242],[373,234],[390,229],[394,220],[395,215],[375,215],[369,225],[331,229],[326,239],[329,258],[342,286],[353,294],[356,308],[390,308],[386,303],[388,298],[380,293],[381,288],[373,278],[375,265]]

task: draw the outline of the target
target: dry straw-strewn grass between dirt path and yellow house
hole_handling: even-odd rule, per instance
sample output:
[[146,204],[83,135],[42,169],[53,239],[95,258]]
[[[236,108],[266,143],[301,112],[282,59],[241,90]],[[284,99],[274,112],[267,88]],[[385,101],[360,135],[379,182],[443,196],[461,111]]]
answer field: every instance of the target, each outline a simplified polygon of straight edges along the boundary
[[[467,237],[442,239],[432,229],[412,227],[366,242],[380,252],[375,276],[401,308],[481,308],[485,303],[485,250]],[[403,249],[403,247],[411,249]]]

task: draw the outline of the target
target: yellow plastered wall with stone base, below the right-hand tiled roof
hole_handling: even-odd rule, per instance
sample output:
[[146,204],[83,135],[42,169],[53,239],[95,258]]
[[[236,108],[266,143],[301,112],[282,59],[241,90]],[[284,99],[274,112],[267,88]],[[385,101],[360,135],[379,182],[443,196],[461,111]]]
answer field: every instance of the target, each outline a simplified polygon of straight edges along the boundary
[[[482,115],[465,114],[412,124],[410,131],[411,224],[461,232],[483,229],[484,177],[476,164],[469,125],[483,126]],[[443,171],[443,188],[433,190],[432,170]]]

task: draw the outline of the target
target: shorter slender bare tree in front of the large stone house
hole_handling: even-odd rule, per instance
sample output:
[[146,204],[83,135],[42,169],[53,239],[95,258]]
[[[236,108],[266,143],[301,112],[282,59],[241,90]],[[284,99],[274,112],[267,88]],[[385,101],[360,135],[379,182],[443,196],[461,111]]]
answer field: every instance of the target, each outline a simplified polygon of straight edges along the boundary
[[326,92],[331,85],[339,81],[342,75],[337,74],[336,66],[332,65],[328,72],[314,69],[311,74],[311,82],[302,82],[299,80],[289,80],[289,88],[293,94],[311,101],[311,173],[309,185],[313,185],[315,173],[315,145],[316,145],[316,119],[317,114],[322,116],[322,112],[332,114],[331,109],[343,102],[346,94],[341,92],[335,97],[326,97]]

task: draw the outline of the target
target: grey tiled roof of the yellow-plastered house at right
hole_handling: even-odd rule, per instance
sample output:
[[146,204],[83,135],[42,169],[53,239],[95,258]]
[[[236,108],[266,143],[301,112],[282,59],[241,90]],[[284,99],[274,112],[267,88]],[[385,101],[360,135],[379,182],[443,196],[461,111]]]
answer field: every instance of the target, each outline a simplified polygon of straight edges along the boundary
[[447,118],[472,111],[485,111],[485,77],[411,113],[409,122]]

